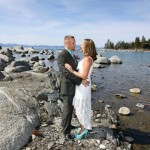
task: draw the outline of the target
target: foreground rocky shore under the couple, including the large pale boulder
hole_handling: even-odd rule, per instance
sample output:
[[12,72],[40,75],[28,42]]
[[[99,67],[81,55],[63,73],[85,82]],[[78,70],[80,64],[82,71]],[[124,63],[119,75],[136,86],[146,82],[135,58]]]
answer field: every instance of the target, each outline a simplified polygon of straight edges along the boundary
[[[0,82],[1,103],[5,101],[4,96],[7,101],[7,105],[6,102],[5,105],[3,104],[0,116],[3,120],[0,129],[1,150],[131,149],[132,138],[125,137],[120,127],[117,127],[118,117],[109,105],[105,105],[103,109],[92,110],[93,130],[86,138],[68,141],[61,134],[63,103],[59,94],[50,90],[53,87],[50,84],[52,79],[47,74],[32,71],[12,74],[11,79],[11,81]],[[11,102],[7,100],[8,97],[12,97]],[[10,104],[12,102],[13,106]],[[4,115],[4,108],[7,110],[8,105],[9,111]],[[79,126],[75,115],[72,124]],[[75,132],[77,129],[72,130],[72,134]]]

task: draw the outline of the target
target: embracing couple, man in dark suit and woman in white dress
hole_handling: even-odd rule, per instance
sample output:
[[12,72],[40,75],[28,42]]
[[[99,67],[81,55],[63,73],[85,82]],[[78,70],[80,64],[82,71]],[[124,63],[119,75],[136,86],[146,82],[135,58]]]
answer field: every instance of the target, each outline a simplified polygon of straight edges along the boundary
[[[91,39],[84,39],[81,44],[83,59],[78,63],[72,53],[75,50],[74,36],[64,37],[65,49],[58,56],[58,67],[62,74],[60,93],[63,95],[62,132],[67,139],[82,139],[92,130],[91,126],[91,73],[96,60],[96,47]],[[72,113],[80,122],[78,133],[71,135]]]

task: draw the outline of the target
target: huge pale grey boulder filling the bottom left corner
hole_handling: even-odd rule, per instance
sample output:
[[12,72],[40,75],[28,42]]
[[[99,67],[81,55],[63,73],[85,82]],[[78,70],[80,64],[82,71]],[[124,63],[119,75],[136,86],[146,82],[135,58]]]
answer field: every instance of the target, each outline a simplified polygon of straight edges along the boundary
[[25,89],[0,87],[0,150],[19,150],[39,125],[39,107]]

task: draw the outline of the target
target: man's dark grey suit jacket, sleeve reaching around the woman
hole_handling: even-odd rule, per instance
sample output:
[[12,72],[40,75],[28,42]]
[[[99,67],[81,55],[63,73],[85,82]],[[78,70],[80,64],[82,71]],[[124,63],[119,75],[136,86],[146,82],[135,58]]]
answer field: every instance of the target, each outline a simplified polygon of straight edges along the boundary
[[80,85],[82,79],[68,71],[64,65],[68,63],[72,66],[73,70],[76,70],[77,63],[75,63],[75,60],[66,49],[59,54],[57,62],[61,72],[60,93],[63,95],[74,95],[75,86]]

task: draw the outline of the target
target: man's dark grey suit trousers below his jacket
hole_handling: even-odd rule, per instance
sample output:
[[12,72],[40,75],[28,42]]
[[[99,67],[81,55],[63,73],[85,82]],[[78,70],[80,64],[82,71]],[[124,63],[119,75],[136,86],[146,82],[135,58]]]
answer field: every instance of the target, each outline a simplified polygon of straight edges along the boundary
[[62,132],[70,134],[70,125],[73,113],[73,97],[72,95],[63,95],[63,114],[62,114]]

